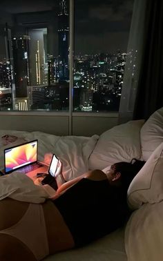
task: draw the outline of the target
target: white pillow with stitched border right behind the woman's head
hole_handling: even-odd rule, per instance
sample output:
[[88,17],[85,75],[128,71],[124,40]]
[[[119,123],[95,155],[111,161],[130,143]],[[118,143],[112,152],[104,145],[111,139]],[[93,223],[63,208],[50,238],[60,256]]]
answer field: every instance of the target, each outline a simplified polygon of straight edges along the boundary
[[153,151],[128,188],[128,205],[139,209],[142,204],[163,200],[163,142]]

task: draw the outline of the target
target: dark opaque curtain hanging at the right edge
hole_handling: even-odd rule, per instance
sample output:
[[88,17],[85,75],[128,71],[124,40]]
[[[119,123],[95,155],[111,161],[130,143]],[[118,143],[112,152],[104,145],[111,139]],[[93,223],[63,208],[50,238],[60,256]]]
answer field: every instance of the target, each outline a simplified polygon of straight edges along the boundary
[[148,119],[163,106],[163,1],[147,1],[145,28],[133,119]]

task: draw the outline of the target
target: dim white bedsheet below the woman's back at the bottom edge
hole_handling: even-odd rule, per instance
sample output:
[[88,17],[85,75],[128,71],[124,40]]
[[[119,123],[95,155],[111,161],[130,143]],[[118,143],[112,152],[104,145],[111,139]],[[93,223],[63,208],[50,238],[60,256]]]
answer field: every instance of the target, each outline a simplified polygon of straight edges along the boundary
[[51,255],[44,261],[127,261],[124,229],[118,229],[86,247]]

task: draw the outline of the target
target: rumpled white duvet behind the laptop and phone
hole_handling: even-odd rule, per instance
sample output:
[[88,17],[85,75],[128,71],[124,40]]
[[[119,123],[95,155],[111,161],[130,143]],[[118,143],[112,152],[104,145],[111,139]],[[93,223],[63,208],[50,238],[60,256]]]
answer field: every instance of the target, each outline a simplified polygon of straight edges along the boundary
[[[44,155],[46,153],[55,153],[57,157],[63,163],[63,175],[65,180],[72,180],[86,171],[88,171],[88,158],[93,152],[98,135],[93,137],[81,137],[81,136],[57,136],[47,133],[41,133],[35,131],[28,133],[26,131],[0,131],[0,139],[3,135],[15,135],[17,137],[23,137],[26,141],[38,139],[38,160],[44,161]],[[3,150],[10,146],[15,146],[19,143],[19,139],[16,142],[12,142],[7,146],[1,146],[0,148],[0,167],[3,168]]]

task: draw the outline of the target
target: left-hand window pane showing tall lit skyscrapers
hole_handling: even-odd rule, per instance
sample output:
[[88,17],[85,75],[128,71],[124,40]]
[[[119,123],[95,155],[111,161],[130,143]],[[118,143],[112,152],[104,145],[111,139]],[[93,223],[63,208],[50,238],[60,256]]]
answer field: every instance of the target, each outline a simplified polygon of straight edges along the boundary
[[3,1],[0,110],[68,110],[69,1]]

